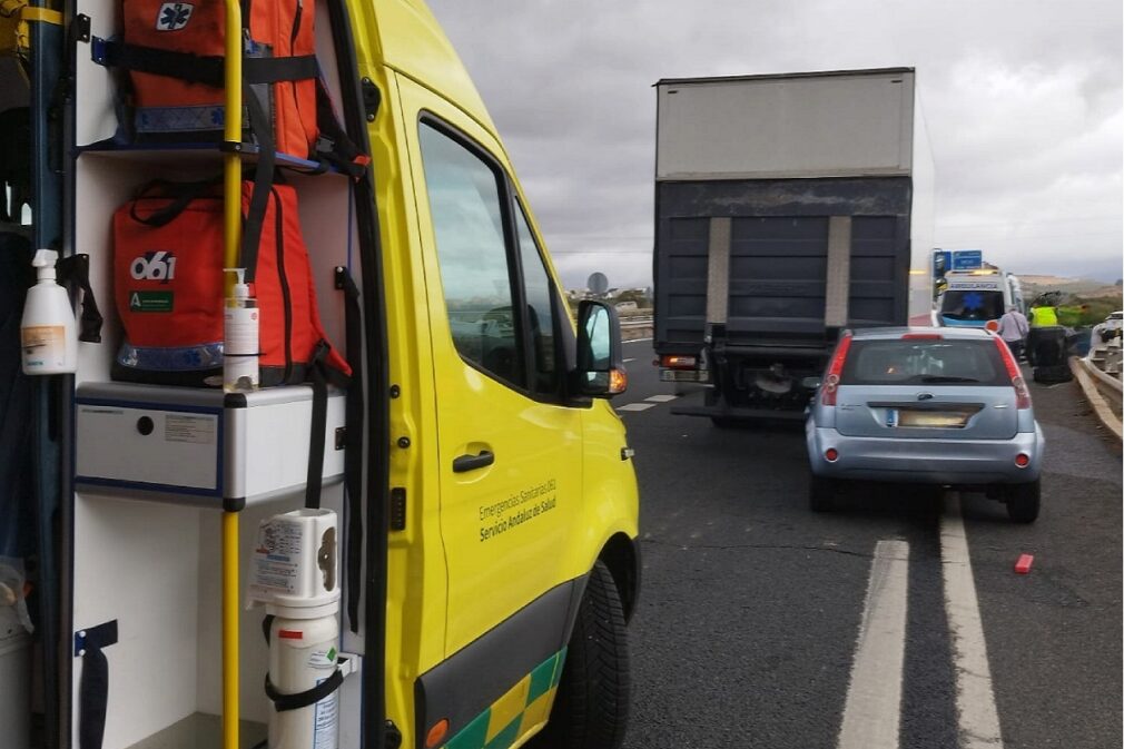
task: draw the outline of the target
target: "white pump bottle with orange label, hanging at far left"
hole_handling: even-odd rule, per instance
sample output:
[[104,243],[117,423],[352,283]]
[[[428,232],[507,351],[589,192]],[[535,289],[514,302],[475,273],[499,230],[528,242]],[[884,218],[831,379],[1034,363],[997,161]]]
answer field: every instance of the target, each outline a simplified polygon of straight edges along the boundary
[[55,281],[54,250],[31,260],[38,282],[27,290],[20,340],[25,374],[64,374],[78,369],[78,323],[66,289]]

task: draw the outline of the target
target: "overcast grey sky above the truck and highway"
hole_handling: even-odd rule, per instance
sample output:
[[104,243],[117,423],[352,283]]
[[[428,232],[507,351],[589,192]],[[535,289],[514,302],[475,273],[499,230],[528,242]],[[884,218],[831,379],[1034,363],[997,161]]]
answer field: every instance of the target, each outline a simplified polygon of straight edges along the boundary
[[1121,0],[430,0],[569,287],[651,282],[661,78],[913,66],[936,245],[1122,276]]

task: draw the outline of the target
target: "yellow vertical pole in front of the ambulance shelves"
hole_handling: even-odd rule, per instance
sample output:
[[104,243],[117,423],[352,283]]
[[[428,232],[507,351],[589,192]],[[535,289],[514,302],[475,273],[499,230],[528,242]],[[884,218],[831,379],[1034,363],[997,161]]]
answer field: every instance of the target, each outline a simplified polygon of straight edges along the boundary
[[[242,142],[242,7],[226,0],[224,139]],[[242,159],[223,155],[224,268],[238,267],[242,243]],[[234,283],[226,274],[225,288]],[[223,301],[225,304],[225,301]],[[223,513],[223,749],[238,749],[238,513]]]

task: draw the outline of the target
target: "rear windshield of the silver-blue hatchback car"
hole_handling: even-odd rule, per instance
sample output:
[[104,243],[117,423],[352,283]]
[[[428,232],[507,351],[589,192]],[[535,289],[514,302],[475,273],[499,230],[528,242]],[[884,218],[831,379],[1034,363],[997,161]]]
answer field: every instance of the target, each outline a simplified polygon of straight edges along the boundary
[[853,341],[840,385],[1010,385],[995,341]]

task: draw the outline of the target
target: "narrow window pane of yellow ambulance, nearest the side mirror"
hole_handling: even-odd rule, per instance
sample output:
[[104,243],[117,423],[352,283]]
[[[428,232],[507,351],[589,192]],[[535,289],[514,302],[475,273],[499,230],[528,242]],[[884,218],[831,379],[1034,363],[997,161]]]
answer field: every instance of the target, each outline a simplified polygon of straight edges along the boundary
[[[518,205],[518,204],[517,204]],[[531,389],[543,395],[558,392],[558,367],[554,353],[553,288],[538,245],[531,233],[523,206],[515,211],[515,227],[519,237],[519,262],[523,265],[525,297],[527,299],[528,345],[531,349]]]

